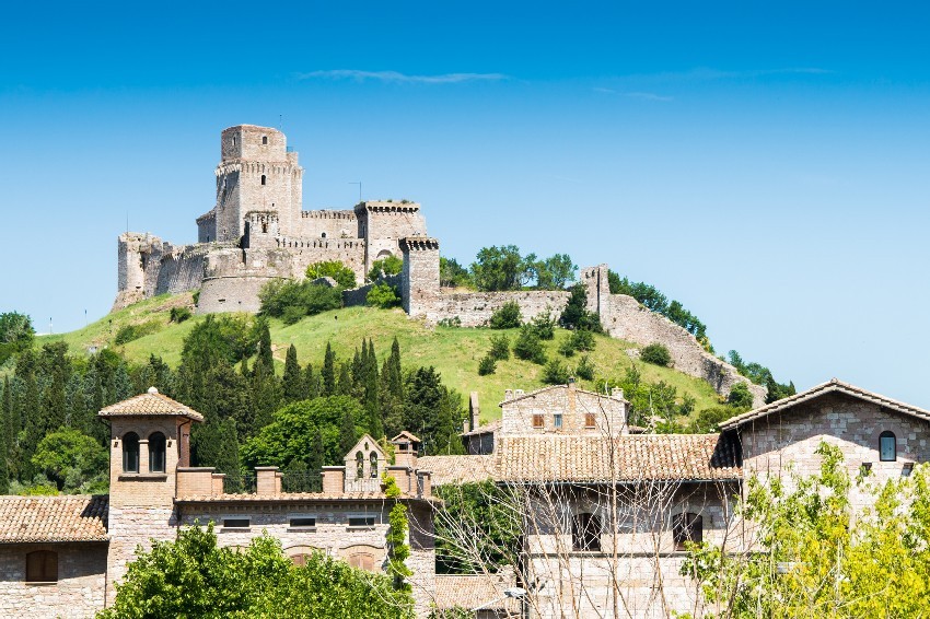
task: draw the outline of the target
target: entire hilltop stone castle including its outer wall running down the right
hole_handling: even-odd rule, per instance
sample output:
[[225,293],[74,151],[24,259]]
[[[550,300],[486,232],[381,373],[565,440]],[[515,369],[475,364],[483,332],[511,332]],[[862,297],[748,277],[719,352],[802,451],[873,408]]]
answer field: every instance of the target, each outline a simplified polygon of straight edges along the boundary
[[[163,293],[200,290],[198,313],[258,312],[258,292],[278,279],[301,279],[306,267],[338,260],[364,281],[375,260],[403,257],[399,283],[404,310],[427,323],[463,327],[488,323],[514,301],[523,318],[560,313],[567,291],[462,292],[440,287],[439,241],[427,235],[420,205],[402,200],[361,201],[352,210],[304,211],[303,168],[281,131],[254,125],[223,130],[216,170],[217,202],[197,218],[193,245],[172,245],[149,233],[127,232],[118,243],[118,292],[114,310]],[[607,265],[581,269],[588,308],[606,331],[641,344],[659,342],[675,367],[704,378],[720,394],[746,383],[755,402],[765,387],[713,357],[684,328],[650,312],[633,297],[611,294]],[[368,287],[346,291],[346,305],[364,304]]]

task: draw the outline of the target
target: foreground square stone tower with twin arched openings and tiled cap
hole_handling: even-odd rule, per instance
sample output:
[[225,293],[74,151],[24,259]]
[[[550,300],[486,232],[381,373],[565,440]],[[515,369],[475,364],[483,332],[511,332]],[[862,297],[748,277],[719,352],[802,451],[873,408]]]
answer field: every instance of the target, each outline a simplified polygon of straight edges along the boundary
[[189,465],[190,425],[204,417],[154,387],[108,406],[100,417],[111,423],[109,550],[107,604],[113,582],[126,574],[136,547],[176,536],[174,499],[178,467]]

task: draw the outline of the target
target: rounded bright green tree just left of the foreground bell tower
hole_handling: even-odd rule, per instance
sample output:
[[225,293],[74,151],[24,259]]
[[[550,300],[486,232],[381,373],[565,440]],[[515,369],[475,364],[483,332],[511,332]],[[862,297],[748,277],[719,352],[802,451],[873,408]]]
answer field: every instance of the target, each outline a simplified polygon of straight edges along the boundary
[[105,491],[109,453],[91,436],[70,428],[46,434],[33,464],[66,493]]

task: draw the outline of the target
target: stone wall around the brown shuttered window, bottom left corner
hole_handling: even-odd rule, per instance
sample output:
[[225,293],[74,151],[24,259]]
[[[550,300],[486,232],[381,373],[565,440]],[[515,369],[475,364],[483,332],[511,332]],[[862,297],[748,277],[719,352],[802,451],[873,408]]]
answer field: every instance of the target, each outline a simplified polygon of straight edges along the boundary
[[[58,582],[27,584],[26,553],[58,553]],[[104,607],[106,542],[23,544],[0,547],[0,616],[93,617]]]

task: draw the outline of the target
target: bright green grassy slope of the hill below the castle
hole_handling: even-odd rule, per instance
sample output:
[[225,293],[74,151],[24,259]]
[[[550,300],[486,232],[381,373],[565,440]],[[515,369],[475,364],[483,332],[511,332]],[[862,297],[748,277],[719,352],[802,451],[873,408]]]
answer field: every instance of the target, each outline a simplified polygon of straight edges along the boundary
[[[181,361],[181,348],[185,336],[202,316],[195,316],[179,325],[170,323],[168,313],[172,307],[189,305],[189,294],[159,296],[121,310],[101,320],[69,334],[44,336],[38,338],[39,344],[46,341],[62,340],[72,352],[86,351],[91,347],[111,347],[121,351],[133,362],[144,362],[149,354],[158,354],[166,363],[176,366]],[[119,328],[129,324],[156,322],[159,330],[124,346],[114,346],[113,340]],[[286,326],[278,320],[271,322],[271,340],[277,361],[283,364],[284,353],[290,344],[294,344],[301,364],[322,363],[326,342],[330,341],[339,358],[348,358],[354,353],[362,338],[372,338],[380,359],[387,355],[391,342],[396,336],[400,343],[400,354],[405,366],[434,365],[442,374],[443,381],[458,389],[463,396],[469,392],[478,392],[481,402],[481,417],[486,420],[500,417],[497,404],[503,399],[505,388],[531,390],[544,386],[539,379],[543,367],[511,357],[508,361],[498,362],[497,373],[489,376],[478,376],[478,361],[490,348],[492,335],[507,332],[511,341],[516,330],[495,331],[491,329],[468,329],[454,327],[429,328],[420,320],[410,320],[400,310],[373,310],[368,307],[349,307],[326,312],[317,316],[304,318],[300,323]],[[557,355],[556,349],[568,331],[556,330],[555,341],[544,342],[546,352],[551,358]],[[620,377],[627,366],[636,364],[642,377],[649,382],[664,381],[677,388],[678,395],[689,394],[697,399],[697,409],[717,404],[713,389],[698,378],[687,376],[675,370],[658,367],[639,360],[632,360],[626,354],[629,348],[637,344],[616,340],[606,336],[596,337],[596,348],[591,359],[601,377]],[[578,355],[568,360],[577,364]],[[603,378],[602,378],[603,381]],[[596,389],[595,383],[582,385]]]

